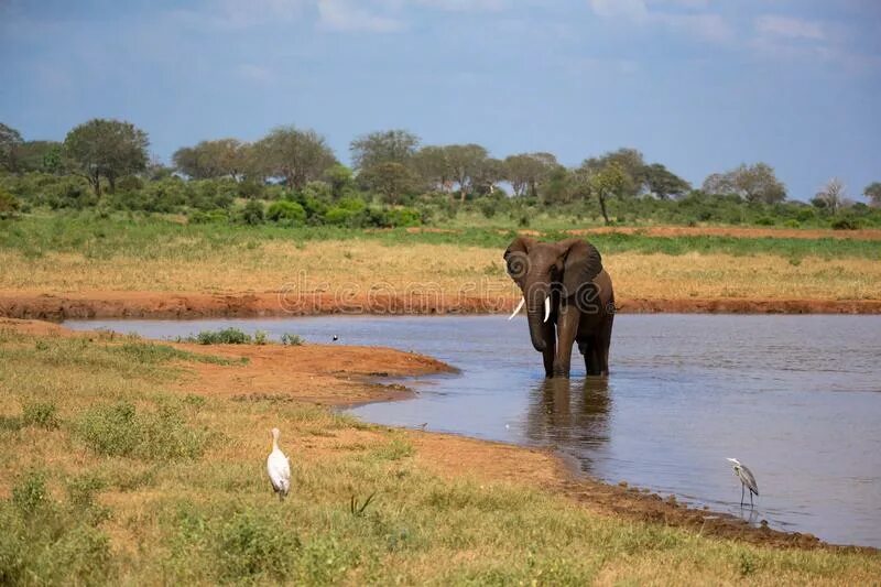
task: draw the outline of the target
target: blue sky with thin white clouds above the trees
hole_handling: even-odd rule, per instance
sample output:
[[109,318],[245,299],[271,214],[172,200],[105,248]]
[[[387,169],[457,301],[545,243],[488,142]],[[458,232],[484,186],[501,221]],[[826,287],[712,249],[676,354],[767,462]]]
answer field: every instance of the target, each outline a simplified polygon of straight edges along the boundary
[[881,0],[0,0],[0,121],[151,152],[312,128],[566,165],[621,146],[695,185],[763,161],[790,197],[881,181]]

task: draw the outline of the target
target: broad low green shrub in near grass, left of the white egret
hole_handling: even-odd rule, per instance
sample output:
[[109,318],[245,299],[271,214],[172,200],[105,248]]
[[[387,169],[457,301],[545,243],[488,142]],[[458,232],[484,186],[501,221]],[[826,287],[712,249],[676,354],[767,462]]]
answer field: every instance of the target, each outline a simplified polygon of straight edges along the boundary
[[199,457],[207,434],[187,426],[180,407],[161,404],[154,412],[139,412],[129,402],[88,410],[75,426],[89,448],[101,455],[145,460]]

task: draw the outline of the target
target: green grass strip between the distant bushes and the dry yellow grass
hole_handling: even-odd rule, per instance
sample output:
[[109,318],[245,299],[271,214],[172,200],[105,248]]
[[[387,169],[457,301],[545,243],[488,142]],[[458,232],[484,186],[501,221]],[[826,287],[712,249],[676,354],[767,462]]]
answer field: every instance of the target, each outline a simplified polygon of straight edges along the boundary
[[[542,230],[541,227],[537,229]],[[489,227],[463,228],[456,232],[411,233],[405,229],[181,225],[160,217],[99,218],[89,213],[29,216],[15,221],[0,221],[0,249],[15,250],[30,258],[50,252],[78,252],[91,259],[129,256],[142,259],[188,259],[197,262],[200,258],[210,256],[214,249],[249,249],[273,240],[305,243],[316,240],[371,239],[389,246],[423,242],[503,249],[514,236],[514,230]],[[544,238],[558,240],[567,237],[562,231],[552,229],[546,231]],[[634,251],[684,254],[698,251],[739,256],[771,253],[794,258],[881,258],[881,243],[878,241],[833,238],[667,238],[613,233],[594,235],[590,241],[609,253]]]

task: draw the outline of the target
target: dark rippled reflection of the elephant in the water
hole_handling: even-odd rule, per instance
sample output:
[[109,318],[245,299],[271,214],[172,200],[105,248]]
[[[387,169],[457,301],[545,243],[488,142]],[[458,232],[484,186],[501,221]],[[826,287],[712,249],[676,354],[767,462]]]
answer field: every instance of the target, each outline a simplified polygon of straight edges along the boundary
[[526,435],[540,444],[599,446],[609,439],[610,411],[606,378],[545,379],[530,393]]

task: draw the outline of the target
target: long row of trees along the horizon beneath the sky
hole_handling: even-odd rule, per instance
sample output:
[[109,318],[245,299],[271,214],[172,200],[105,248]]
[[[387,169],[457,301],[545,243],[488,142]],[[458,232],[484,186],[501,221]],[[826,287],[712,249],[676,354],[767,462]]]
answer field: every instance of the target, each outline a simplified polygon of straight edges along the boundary
[[[773,167],[762,162],[710,174],[694,189],[662,163],[645,161],[635,149],[619,149],[567,167],[553,153],[496,159],[479,144],[423,144],[402,129],[352,140],[351,167],[339,162],[323,135],[292,126],[278,127],[254,142],[226,138],[183,146],[174,152],[171,166],[151,160],[149,145],[146,132],[119,120],[89,120],[72,129],[63,142],[24,141],[15,129],[0,123],[0,169],[73,174],[87,181],[96,197],[102,189],[115,193],[122,178],[177,174],[193,181],[228,178],[240,184],[246,196],[265,185],[302,192],[313,182],[323,182],[337,195],[352,185],[391,206],[423,193],[446,195],[452,203],[500,195],[546,206],[595,202],[607,224],[611,199],[670,200],[703,192],[773,205],[787,195]],[[881,206],[881,183],[867,186],[863,194]],[[812,203],[831,214],[851,204],[836,178]]]

